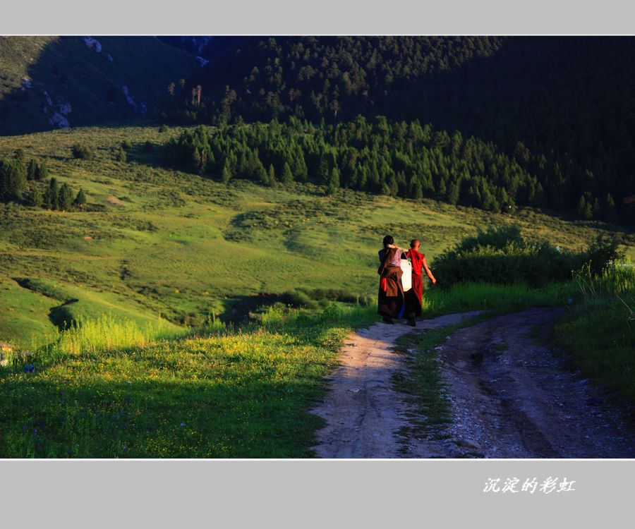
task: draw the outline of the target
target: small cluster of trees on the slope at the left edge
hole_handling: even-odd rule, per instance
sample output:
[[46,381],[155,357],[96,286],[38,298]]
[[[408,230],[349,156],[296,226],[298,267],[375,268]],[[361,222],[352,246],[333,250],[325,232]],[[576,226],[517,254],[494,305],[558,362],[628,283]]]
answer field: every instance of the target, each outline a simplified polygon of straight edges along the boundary
[[77,193],[56,178],[47,180],[49,171],[45,162],[31,159],[25,163],[21,150],[13,159],[0,158],[0,202],[23,202],[34,207],[68,210],[83,207],[86,195],[83,189]]

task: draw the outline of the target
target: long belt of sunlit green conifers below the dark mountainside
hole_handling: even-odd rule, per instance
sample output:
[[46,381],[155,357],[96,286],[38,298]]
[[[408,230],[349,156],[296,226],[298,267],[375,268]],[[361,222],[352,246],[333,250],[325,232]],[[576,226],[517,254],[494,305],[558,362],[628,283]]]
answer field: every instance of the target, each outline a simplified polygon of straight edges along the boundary
[[347,123],[222,126],[184,131],[164,150],[168,164],[229,181],[265,185],[313,181],[329,193],[349,188],[430,197],[500,212],[512,205],[547,207],[538,178],[492,144],[429,123],[363,116]]

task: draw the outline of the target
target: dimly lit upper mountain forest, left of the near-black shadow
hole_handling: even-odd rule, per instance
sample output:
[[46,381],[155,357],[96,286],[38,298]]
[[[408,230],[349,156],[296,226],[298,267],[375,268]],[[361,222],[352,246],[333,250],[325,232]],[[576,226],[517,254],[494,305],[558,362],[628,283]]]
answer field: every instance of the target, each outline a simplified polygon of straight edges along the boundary
[[[222,37],[213,45],[221,46]],[[161,118],[180,123],[388,114],[401,87],[500,49],[500,37],[245,37],[171,83]],[[176,81],[176,80],[175,80]],[[416,116],[409,116],[416,117]]]

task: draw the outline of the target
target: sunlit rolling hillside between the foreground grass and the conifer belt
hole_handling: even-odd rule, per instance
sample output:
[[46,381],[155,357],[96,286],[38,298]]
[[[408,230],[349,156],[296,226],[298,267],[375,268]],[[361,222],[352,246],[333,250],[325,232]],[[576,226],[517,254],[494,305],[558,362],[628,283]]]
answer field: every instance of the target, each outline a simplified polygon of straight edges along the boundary
[[[0,205],[0,341],[29,346],[56,325],[102,312],[141,324],[161,318],[176,330],[247,296],[298,287],[374,295],[387,233],[399,245],[420,238],[434,270],[435,255],[490,224],[518,224],[530,241],[571,249],[598,232],[622,231],[534,209],[492,214],[349,190],[327,196],[301,184],[224,185],[159,165],[159,145],[181,130],[73,128],[0,138],[0,157],[21,148],[27,159],[46,160],[50,176],[83,188],[92,209]],[[126,139],[133,143],[128,162],[116,162],[114,150]],[[73,159],[76,142],[95,157]]]

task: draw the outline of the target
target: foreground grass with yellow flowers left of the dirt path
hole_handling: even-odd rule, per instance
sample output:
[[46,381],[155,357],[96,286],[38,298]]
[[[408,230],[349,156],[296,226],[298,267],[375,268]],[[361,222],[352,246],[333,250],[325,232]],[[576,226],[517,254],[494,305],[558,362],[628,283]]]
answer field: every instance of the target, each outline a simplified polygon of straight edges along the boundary
[[[351,322],[368,324],[371,311],[277,306],[258,327],[216,320],[158,341],[131,322],[83,322],[0,370],[0,456],[311,456],[322,420],[307,412]],[[124,345],[107,348],[108,330]]]

